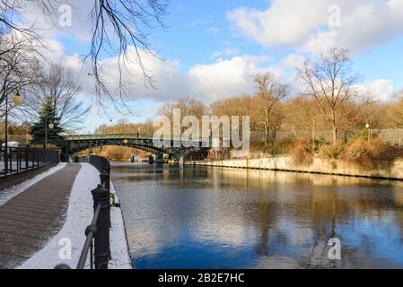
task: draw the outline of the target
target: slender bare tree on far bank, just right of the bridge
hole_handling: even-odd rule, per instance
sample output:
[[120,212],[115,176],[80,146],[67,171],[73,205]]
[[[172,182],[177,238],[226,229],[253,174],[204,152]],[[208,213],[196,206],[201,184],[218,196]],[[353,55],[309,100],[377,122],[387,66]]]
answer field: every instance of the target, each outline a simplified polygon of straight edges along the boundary
[[259,123],[264,126],[266,143],[269,143],[272,136],[281,123],[281,113],[276,109],[281,100],[288,94],[288,85],[278,82],[273,74],[256,74],[254,82],[258,90],[256,111],[260,117]]

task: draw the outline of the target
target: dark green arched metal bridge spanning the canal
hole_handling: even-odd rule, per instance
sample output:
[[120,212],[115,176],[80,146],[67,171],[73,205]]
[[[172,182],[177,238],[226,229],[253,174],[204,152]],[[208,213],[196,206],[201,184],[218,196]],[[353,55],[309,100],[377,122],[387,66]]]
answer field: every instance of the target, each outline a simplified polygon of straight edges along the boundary
[[154,141],[153,135],[66,135],[63,156],[68,159],[74,153],[94,147],[120,145],[152,152],[158,159],[162,159],[162,155],[166,153],[169,154],[171,160],[180,161],[180,159],[186,159],[190,154],[197,154],[197,157],[205,158],[209,150],[209,148],[202,147],[202,139],[184,142],[171,137],[162,140],[163,146],[158,143],[160,141]]

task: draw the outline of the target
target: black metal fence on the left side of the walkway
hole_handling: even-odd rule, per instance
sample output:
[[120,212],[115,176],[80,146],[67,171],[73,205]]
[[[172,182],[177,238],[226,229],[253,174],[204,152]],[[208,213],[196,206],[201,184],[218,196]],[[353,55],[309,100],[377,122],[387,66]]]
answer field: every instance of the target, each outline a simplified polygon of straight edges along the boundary
[[58,151],[33,150],[26,147],[0,147],[0,178],[36,170],[60,161]]

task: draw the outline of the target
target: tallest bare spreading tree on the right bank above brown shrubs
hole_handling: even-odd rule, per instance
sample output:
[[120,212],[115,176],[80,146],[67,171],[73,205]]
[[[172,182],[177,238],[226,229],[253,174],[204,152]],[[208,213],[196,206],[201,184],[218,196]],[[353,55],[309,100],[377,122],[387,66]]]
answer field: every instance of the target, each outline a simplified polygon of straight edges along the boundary
[[342,120],[369,102],[363,98],[362,105],[346,105],[348,101],[357,100],[355,84],[359,79],[352,72],[348,51],[332,48],[327,54],[322,54],[316,63],[306,62],[298,74],[306,88],[305,96],[316,101],[332,127],[333,145],[336,145],[337,130]]

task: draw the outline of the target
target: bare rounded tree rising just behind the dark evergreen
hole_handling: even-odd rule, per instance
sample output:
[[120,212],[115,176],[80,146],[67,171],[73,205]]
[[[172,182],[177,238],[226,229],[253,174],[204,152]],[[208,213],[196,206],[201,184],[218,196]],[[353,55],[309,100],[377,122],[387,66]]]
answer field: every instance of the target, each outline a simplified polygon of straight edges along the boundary
[[81,87],[74,75],[63,65],[51,65],[44,73],[43,80],[29,96],[27,113],[36,117],[37,111],[42,109],[43,103],[48,100],[58,118],[58,126],[64,130],[79,127],[83,123],[90,107],[85,107],[83,101],[78,100]]

